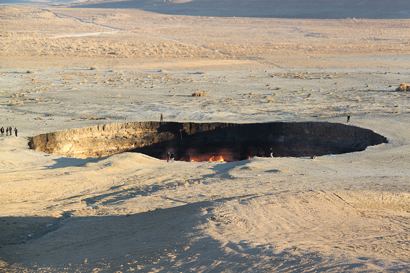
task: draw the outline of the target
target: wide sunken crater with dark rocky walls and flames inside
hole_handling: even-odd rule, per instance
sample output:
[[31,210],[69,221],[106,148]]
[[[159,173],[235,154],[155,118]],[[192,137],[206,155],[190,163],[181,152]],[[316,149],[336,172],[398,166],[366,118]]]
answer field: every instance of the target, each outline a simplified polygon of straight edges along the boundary
[[31,149],[76,158],[139,152],[165,159],[224,161],[252,156],[320,156],[363,151],[387,139],[371,130],[330,122],[122,122],[33,136]]

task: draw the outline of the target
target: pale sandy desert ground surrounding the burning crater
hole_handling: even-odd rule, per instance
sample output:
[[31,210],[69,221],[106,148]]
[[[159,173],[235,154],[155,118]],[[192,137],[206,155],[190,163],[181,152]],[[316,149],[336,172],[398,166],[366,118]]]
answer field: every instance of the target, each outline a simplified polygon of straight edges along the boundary
[[[295,1],[283,17],[254,5],[245,17],[247,1],[1,5],[0,127],[18,137],[0,137],[0,271],[409,272],[410,93],[396,88],[410,83],[410,16],[399,2],[302,16]],[[388,143],[174,163],[28,146],[37,134],[161,113],[350,115]]]

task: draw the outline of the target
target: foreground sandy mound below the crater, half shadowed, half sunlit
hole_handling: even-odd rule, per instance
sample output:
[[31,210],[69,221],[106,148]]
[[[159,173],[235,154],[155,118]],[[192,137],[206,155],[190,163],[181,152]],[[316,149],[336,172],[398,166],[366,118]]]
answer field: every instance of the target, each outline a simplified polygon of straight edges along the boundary
[[14,259],[24,257],[20,266],[59,272],[404,272],[410,253],[403,230],[408,218],[355,207],[324,191],[59,221],[41,238],[9,247],[19,253]]

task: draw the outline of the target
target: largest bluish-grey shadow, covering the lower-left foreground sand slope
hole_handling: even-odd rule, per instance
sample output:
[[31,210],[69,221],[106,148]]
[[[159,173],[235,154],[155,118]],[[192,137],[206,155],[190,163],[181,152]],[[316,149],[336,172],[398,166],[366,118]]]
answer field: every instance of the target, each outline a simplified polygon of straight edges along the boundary
[[[7,243],[0,237],[3,242],[0,269],[13,272],[115,272],[130,268],[134,272],[222,272],[229,268],[230,272],[306,272],[332,268],[346,271],[362,266],[329,264],[317,253],[295,251],[295,247],[278,250],[274,244],[258,244],[247,237],[238,242],[217,240],[207,232],[209,228],[223,233],[232,225],[240,228],[244,221],[215,211],[215,207],[233,198],[133,215],[59,220],[1,217],[0,223],[5,225],[25,226],[13,235],[25,236],[25,240]],[[50,224],[57,228],[45,232]],[[42,236],[25,235],[35,228],[37,230],[31,232],[40,234],[43,230]]]

